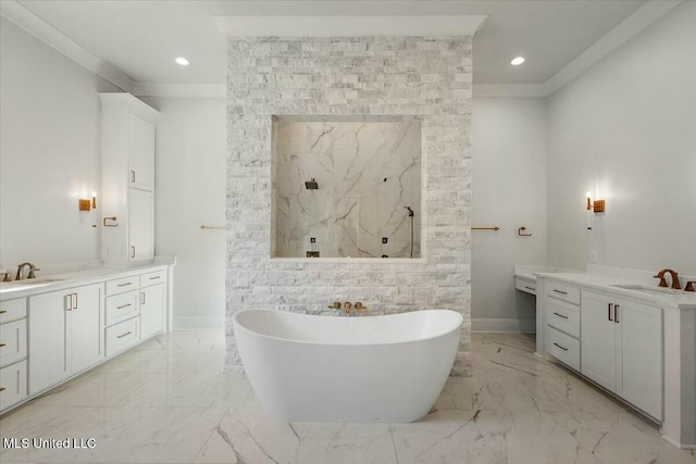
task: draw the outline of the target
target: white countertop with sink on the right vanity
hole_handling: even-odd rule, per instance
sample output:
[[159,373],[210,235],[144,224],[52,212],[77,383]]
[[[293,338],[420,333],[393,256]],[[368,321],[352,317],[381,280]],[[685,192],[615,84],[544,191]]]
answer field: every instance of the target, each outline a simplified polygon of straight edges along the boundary
[[[641,290],[617,287],[618,285],[639,285],[634,280],[626,280],[618,277],[601,274],[588,273],[535,273],[536,277],[560,280],[568,284],[575,284],[589,287],[595,290],[610,291],[614,294],[629,297],[644,301],[648,304],[657,304],[661,308],[676,308],[680,310],[696,310],[696,292],[683,290],[671,290],[666,292],[645,292]],[[649,287],[649,286],[644,286]],[[657,286],[655,286],[657,289]]]

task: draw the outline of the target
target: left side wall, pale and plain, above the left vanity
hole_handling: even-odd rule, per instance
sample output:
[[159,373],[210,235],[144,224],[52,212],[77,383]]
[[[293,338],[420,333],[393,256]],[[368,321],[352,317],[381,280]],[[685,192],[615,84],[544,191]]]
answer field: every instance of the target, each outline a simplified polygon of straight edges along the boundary
[[[0,27],[0,267],[100,259],[100,91],[115,87],[20,29]],[[40,274],[39,274],[40,275]]]

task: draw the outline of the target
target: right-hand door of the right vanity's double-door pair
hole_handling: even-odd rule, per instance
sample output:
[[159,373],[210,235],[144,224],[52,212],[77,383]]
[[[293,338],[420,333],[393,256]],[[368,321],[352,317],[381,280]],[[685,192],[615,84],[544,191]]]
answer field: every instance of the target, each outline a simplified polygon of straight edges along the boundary
[[617,300],[619,394],[662,419],[662,311]]

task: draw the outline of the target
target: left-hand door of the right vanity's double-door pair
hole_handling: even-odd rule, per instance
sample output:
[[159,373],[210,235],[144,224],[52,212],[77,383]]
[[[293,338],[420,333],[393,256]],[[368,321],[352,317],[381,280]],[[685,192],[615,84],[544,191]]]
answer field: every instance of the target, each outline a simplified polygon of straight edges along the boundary
[[581,373],[611,391],[617,388],[616,326],[613,298],[583,292]]

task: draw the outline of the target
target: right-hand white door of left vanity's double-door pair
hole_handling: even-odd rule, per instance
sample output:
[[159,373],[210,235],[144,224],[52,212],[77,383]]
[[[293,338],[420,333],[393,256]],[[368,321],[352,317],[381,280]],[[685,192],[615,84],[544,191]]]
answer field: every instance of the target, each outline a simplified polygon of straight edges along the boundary
[[67,313],[66,325],[71,374],[97,364],[103,356],[102,288],[101,284],[96,284],[73,290],[75,304]]

